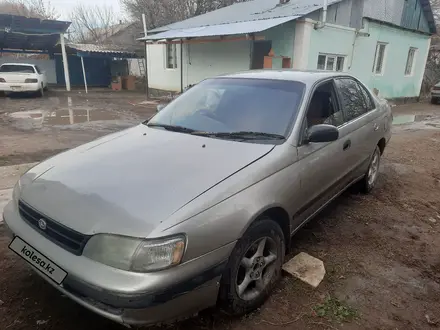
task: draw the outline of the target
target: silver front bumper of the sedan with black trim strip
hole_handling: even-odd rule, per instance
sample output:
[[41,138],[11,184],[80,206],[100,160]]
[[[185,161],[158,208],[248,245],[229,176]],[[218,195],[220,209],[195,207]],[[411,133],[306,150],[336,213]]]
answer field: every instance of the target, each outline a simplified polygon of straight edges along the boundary
[[139,274],[64,250],[24,222],[14,202],[6,206],[4,220],[14,235],[68,273],[61,285],[35,269],[40,276],[80,305],[125,325],[173,321],[214,306],[221,274],[235,245],[228,244],[169,270]]

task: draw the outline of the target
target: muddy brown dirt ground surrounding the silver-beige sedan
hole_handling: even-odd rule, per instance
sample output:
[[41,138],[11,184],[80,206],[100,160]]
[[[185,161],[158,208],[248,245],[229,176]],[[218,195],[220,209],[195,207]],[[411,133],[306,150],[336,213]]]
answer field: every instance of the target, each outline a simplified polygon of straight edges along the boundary
[[[151,113],[151,108],[128,103],[142,99],[95,95],[87,101],[77,96],[74,106],[110,110],[123,117],[112,123],[43,122],[32,127],[29,119],[17,120],[5,112],[43,107],[57,112],[57,107],[68,107],[64,96],[0,99],[0,163],[38,161],[130,126]],[[404,105],[394,112],[416,115],[415,122],[393,128],[374,192],[344,193],[293,239],[289,257],[304,251],[325,263],[327,274],[317,289],[284,277],[269,301],[251,315],[237,319],[211,310],[169,328],[439,328],[440,106]],[[8,250],[9,239],[3,234],[0,226],[0,329],[123,329],[60,296]]]

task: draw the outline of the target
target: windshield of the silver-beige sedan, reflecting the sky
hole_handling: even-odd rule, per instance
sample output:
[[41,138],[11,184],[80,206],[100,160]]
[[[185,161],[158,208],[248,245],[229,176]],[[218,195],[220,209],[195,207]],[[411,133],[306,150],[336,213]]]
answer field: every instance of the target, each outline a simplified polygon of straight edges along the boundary
[[183,93],[147,125],[218,138],[284,139],[304,84],[297,81],[216,78]]

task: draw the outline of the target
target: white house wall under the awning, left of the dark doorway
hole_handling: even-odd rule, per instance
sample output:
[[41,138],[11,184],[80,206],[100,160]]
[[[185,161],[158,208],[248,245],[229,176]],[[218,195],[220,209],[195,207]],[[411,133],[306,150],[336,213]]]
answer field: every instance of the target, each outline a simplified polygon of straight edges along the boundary
[[[183,85],[196,84],[209,77],[249,70],[251,41],[185,44]],[[167,91],[180,91],[180,45],[177,45],[177,68],[165,68],[163,44],[148,45],[149,86]]]

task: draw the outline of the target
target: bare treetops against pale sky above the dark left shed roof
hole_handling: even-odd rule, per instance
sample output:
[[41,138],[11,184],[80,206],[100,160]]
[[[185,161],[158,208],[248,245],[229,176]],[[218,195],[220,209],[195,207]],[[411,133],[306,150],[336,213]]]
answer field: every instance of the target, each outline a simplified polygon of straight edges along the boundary
[[41,19],[57,19],[59,14],[50,1],[44,0],[3,0],[0,12]]

